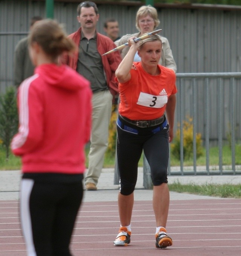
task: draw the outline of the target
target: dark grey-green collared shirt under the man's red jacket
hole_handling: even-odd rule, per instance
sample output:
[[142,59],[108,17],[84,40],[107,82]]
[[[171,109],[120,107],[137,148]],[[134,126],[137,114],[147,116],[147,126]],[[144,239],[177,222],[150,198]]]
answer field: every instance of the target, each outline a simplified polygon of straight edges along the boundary
[[88,40],[81,31],[76,71],[90,81],[93,93],[108,89],[101,55],[97,51],[96,33]]

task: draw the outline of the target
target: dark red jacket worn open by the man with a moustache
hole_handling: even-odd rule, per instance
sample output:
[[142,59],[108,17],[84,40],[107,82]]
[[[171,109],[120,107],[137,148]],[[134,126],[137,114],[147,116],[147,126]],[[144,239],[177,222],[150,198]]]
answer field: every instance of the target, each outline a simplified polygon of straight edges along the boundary
[[[81,27],[78,31],[74,32],[73,34],[69,35],[69,37],[76,43],[79,47],[80,44],[80,37],[81,37]],[[115,51],[111,54],[107,54],[102,56],[105,52],[108,52],[114,48],[116,45],[114,42],[107,36],[102,35],[100,33],[96,33],[96,41],[97,41],[97,51],[101,55],[102,64],[104,67],[105,72],[105,79],[107,81],[107,85],[109,90],[113,96],[119,94],[118,90],[118,83],[115,81],[115,72],[119,64],[121,63],[121,54],[119,51]],[[78,51],[75,52],[73,55],[66,55],[64,57],[63,62],[68,66],[72,67],[72,69],[76,70],[77,62],[78,62]]]

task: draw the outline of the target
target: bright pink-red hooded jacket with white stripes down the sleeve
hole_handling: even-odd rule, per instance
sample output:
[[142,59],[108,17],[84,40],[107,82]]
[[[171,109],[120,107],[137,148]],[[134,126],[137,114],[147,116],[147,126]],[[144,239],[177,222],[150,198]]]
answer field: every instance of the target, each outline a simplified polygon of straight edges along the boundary
[[80,174],[91,129],[90,83],[66,65],[43,64],[18,91],[19,129],[11,143],[24,173]]

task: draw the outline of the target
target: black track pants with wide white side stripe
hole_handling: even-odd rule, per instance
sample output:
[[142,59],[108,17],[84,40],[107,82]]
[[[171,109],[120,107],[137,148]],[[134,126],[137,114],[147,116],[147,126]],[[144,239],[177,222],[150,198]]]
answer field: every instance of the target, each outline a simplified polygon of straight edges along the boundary
[[28,256],[72,255],[70,238],[82,196],[82,182],[22,179],[20,215]]

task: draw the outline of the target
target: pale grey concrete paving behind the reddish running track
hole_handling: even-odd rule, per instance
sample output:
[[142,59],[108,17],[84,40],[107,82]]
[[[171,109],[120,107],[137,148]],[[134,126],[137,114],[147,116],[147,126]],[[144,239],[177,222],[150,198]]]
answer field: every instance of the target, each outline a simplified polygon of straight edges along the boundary
[[[134,192],[135,200],[152,200],[152,190],[143,187],[143,168],[138,169],[138,179]],[[17,200],[19,198],[20,170],[0,171],[0,200]],[[114,185],[114,168],[103,169],[98,182],[98,190],[85,191],[84,201],[117,201],[119,185]],[[241,184],[241,175],[201,175],[168,176],[169,184]],[[214,198],[170,192],[171,200]],[[217,199],[217,198],[216,198]]]

